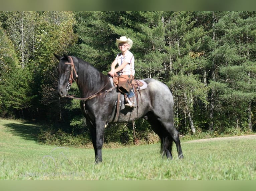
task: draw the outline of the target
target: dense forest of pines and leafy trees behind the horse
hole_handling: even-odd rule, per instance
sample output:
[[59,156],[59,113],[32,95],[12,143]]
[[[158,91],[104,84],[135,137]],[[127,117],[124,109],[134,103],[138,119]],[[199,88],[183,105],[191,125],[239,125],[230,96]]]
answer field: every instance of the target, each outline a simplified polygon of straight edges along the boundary
[[[107,74],[116,38],[133,40],[135,78],[165,83],[181,135],[256,130],[255,11],[0,11],[0,117],[42,123],[39,142],[90,142],[79,101],[60,99],[55,54]],[[73,83],[70,94],[78,94]],[[108,142],[158,141],[149,124],[106,128]],[[135,135],[135,136],[134,136]],[[136,140],[136,141],[135,141]]]

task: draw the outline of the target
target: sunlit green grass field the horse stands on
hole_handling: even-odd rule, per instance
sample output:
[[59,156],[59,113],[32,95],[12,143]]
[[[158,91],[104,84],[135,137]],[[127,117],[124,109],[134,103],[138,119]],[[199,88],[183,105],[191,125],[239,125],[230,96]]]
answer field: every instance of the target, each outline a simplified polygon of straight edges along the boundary
[[185,159],[162,159],[160,143],[104,148],[94,164],[93,149],[38,144],[39,126],[0,119],[2,180],[256,180],[253,139],[181,141]]

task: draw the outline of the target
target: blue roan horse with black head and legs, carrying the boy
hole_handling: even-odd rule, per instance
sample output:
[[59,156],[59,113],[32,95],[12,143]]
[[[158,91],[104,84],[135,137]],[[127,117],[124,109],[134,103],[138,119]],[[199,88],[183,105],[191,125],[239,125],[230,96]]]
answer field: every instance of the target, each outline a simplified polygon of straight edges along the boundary
[[[58,64],[58,94],[68,95],[69,86],[76,81],[80,90],[81,110],[89,126],[95,162],[102,161],[102,145],[106,123],[113,122],[113,112],[116,112],[118,91],[113,87],[111,77],[99,72],[88,62],[74,56],[63,57],[55,55]],[[179,133],[174,127],[173,97],[169,88],[155,79],[144,79],[147,88],[138,95],[136,108],[121,107],[116,122],[128,122],[145,118],[154,132],[161,139],[161,153],[172,159],[172,143],[176,143],[178,157],[184,158],[181,150]]]

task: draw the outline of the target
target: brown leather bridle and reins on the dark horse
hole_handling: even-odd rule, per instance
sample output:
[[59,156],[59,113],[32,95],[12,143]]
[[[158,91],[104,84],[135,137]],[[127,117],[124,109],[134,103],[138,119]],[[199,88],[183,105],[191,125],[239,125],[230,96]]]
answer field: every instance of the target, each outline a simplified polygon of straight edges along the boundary
[[[70,88],[70,86],[72,85],[72,82],[73,81],[76,81],[74,78],[73,78],[73,70],[75,72],[75,75],[76,75],[76,79],[78,78],[78,75],[77,75],[77,72],[76,72],[76,69],[75,69],[75,65],[74,65],[74,62],[73,62],[73,59],[71,56],[68,56],[71,60],[71,62],[65,62],[65,64],[70,64],[71,65],[71,73],[70,73],[70,77],[69,77],[69,84],[68,84],[68,87],[67,87],[67,90]],[[108,82],[110,81],[110,79],[108,80]],[[79,98],[79,97],[74,97],[74,95],[68,95],[67,97],[69,98],[72,98],[72,99],[79,99],[79,100],[83,100],[83,101],[87,101],[89,99],[92,99],[94,97],[97,97],[99,95],[102,95],[102,94],[107,94],[108,92],[112,91],[113,89],[116,88],[116,86],[108,89],[108,90],[105,90],[104,92],[101,92],[108,84],[108,82],[103,86],[103,88],[101,88],[98,92],[94,93],[93,95],[90,95],[89,97],[85,97],[85,98]]]

